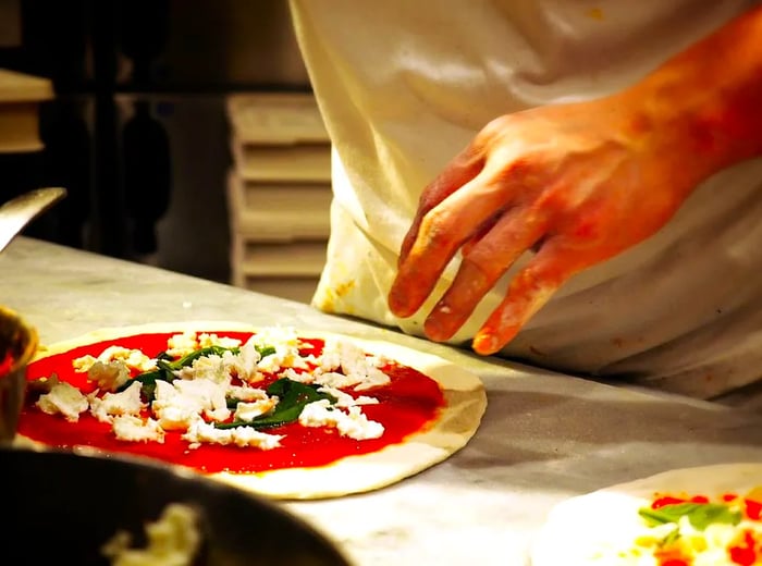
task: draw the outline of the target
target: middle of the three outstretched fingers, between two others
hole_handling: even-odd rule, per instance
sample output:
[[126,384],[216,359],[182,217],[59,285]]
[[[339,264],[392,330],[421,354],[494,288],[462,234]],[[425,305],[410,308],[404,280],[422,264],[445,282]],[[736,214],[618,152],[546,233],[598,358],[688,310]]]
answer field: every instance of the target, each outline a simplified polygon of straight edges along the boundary
[[479,241],[469,242],[455,280],[426,320],[427,336],[444,341],[455,334],[519,256],[544,236],[546,227],[546,216],[515,208]]

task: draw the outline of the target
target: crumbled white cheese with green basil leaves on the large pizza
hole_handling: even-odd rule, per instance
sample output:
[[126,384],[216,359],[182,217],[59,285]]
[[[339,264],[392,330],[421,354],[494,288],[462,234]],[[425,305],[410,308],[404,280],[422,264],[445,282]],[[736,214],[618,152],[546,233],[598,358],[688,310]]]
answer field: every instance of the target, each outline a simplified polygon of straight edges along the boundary
[[[389,383],[379,368],[388,360],[339,340],[325,342],[319,355],[303,355],[302,347],[294,331],[280,328],[245,343],[211,333],[174,334],[155,357],[110,345],[72,361],[75,371],[87,372],[94,391],[50,380],[36,405],[69,420],[89,409],[123,441],[163,443],[167,431],[179,431],[190,448],[212,443],[272,450],[283,435],[262,430],[292,422],[355,440],[380,438],[383,426],[360,409],[378,399],[340,387]],[[268,378],[267,387],[255,386]]]

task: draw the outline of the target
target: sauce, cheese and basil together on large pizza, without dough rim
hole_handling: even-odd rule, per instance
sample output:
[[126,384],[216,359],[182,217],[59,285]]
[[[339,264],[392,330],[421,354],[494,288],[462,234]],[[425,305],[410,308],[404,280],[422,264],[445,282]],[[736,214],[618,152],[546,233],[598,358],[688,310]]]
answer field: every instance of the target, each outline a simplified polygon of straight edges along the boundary
[[[122,349],[98,359],[111,346]],[[29,365],[21,438],[205,472],[319,467],[376,453],[427,431],[446,407],[434,379],[330,334],[299,337],[283,328],[155,331],[67,348]],[[132,350],[152,359],[152,369],[128,366],[138,359],[126,354]],[[81,360],[76,367],[74,360]],[[40,397],[59,382],[66,385],[47,399],[67,390],[70,403],[41,410]]]

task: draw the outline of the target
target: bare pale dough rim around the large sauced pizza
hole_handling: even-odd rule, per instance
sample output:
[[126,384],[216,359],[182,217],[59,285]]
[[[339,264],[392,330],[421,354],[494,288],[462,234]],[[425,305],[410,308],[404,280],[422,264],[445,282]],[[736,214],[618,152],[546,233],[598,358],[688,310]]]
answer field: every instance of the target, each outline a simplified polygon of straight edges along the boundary
[[[260,328],[231,321],[192,321],[101,329],[73,340],[40,346],[35,359],[134,334],[256,332]],[[258,473],[219,472],[210,473],[209,477],[274,499],[335,497],[380,489],[430,468],[465,446],[476,433],[487,408],[484,387],[477,376],[438,356],[388,342],[299,329],[297,334],[305,339],[337,336],[357,344],[369,354],[384,355],[417,369],[441,385],[446,405],[428,430],[414,433],[402,444],[390,445],[379,452],[347,456],[321,467],[285,468]],[[16,436],[16,443],[41,447],[39,443],[20,435]]]

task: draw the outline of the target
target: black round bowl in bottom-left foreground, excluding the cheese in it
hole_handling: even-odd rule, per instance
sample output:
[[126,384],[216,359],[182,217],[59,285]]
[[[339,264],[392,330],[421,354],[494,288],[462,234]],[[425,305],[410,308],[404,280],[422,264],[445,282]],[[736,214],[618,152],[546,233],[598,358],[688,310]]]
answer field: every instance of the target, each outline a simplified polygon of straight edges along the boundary
[[169,504],[195,509],[193,565],[349,566],[322,534],[278,502],[186,469],[123,456],[0,447],[0,543],[17,564],[109,565],[118,531],[144,547],[146,525]]

